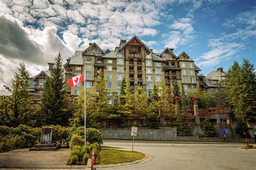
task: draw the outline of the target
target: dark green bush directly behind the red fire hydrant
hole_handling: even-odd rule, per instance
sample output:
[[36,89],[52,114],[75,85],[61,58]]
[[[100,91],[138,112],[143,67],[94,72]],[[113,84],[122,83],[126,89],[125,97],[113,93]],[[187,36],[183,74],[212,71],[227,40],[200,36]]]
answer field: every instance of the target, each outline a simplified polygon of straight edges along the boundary
[[241,119],[237,119],[236,122],[237,126],[235,126],[235,138],[250,138],[251,135],[246,123]]

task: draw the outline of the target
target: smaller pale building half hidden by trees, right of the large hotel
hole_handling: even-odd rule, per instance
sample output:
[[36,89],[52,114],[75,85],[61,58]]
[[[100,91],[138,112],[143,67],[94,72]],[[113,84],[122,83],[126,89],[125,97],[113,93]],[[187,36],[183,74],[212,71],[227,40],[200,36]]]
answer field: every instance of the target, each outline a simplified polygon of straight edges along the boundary
[[219,67],[203,78],[205,90],[210,96],[214,96],[217,93],[218,83],[219,81],[225,81],[225,74],[226,72],[223,71],[223,67]]

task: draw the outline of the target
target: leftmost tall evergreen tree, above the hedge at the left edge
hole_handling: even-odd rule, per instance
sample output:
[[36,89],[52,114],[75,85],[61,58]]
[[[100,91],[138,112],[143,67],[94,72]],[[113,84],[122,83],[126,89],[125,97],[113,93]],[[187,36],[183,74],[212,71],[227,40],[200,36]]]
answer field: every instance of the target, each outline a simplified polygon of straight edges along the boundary
[[29,72],[22,63],[18,67],[18,73],[15,73],[12,79],[11,87],[4,86],[11,93],[10,98],[5,98],[5,111],[8,112],[9,125],[18,126],[25,124],[25,116],[30,111],[29,99]]

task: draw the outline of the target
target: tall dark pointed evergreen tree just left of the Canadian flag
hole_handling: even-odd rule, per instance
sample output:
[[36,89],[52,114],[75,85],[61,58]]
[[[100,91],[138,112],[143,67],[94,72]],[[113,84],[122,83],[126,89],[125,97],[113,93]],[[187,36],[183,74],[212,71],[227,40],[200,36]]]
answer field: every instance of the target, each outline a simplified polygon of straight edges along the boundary
[[56,56],[50,76],[44,84],[42,115],[45,125],[67,125],[68,116],[64,111],[64,68],[60,53]]

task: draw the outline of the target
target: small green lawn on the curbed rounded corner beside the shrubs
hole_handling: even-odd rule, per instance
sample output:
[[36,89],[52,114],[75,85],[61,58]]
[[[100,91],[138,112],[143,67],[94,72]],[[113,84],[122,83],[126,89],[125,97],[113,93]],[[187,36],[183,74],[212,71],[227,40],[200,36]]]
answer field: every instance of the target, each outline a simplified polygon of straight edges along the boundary
[[123,150],[100,150],[100,165],[107,164],[122,164],[124,162],[132,162],[140,160],[145,157],[144,153],[136,151],[123,151]]

